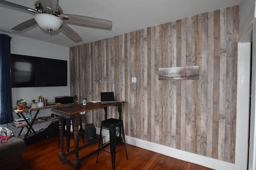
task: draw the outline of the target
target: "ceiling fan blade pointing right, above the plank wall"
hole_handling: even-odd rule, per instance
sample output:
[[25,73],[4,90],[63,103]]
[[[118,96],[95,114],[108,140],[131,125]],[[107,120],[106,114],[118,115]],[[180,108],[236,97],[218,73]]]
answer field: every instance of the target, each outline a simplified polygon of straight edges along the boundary
[[64,23],[78,25],[82,27],[90,27],[96,29],[112,29],[112,21],[102,20],[99,18],[92,18],[86,16],[76,16],[71,14],[60,14],[60,17],[68,17],[68,20],[63,20]]

